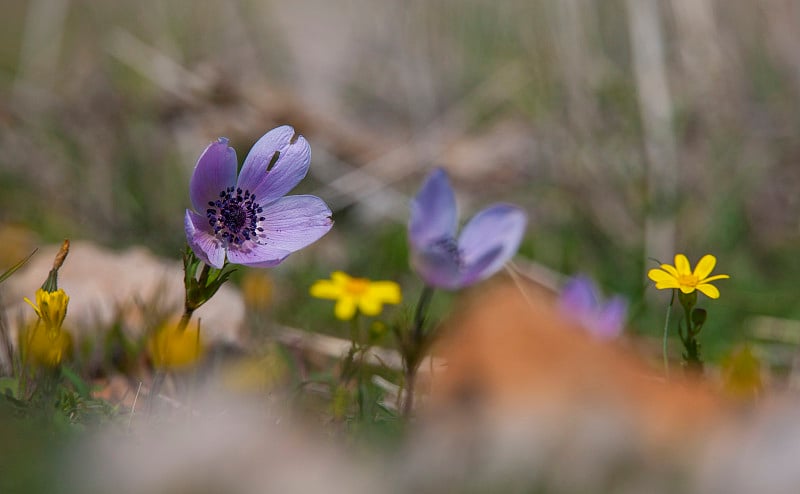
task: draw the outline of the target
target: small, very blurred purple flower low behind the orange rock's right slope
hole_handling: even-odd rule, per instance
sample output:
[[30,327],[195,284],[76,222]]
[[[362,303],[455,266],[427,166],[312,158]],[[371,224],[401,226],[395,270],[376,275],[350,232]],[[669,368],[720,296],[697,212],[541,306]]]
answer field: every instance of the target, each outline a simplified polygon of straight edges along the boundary
[[601,340],[614,339],[625,329],[628,311],[625,299],[614,296],[603,301],[597,286],[586,276],[578,275],[567,281],[559,305],[567,317]]

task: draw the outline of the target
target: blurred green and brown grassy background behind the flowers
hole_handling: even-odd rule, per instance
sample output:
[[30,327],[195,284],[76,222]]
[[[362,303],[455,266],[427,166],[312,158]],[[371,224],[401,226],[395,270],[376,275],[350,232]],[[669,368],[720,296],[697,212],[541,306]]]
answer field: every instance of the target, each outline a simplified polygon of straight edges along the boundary
[[[0,18],[0,260],[64,237],[178,258],[188,179],[294,125],[298,192],[336,227],[274,270],[281,322],[342,269],[412,301],[408,198],[435,165],[462,209],[530,214],[518,266],[584,272],[658,335],[651,258],[719,259],[702,341],[800,319],[800,9],[790,0],[31,0]],[[796,326],[791,326],[795,330]]]

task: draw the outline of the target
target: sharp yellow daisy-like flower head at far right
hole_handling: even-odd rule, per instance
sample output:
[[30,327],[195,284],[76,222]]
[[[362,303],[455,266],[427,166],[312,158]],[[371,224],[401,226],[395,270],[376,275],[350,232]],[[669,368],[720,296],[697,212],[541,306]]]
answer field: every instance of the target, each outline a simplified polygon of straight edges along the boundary
[[710,282],[724,280],[730,276],[727,274],[708,276],[716,264],[717,258],[706,254],[692,271],[689,259],[683,254],[676,254],[674,266],[662,264],[660,268],[651,269],[647,277],[656,283],[656,288],[659,290],[677,288],[686,294],[697,290],[710,298],[719,298],[719,290]]

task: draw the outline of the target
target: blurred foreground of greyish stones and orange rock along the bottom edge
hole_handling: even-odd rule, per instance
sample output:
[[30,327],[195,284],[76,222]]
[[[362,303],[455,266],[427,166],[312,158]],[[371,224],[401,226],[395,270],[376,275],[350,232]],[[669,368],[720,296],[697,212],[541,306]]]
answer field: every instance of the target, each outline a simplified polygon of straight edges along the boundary
[[76,493],[735,494],[800,485],[795,398],[739,401],[713,380],[665,382],[630,348],[562,319],[549,291],[499,280],[483,288],[445,323],[434,354],[447,364],[433,367],[402,439],[353,442],[355,429],[345,430],[356,424],[309,424],[284,392],[245,399],[217,381],[169,413],[121,409],[124,421],[47,446],[51,459],[26,468],[47,473],[42,492]]

